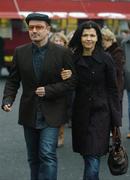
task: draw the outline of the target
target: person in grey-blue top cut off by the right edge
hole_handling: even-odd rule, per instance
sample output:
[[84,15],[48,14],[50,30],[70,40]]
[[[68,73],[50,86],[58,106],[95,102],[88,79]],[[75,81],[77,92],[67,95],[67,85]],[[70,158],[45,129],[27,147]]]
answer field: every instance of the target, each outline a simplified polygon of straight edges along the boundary
[[124,88],[126,89],[127,97],[128,97],[128,119],[129,119],[128,131],[129,132],[128,132],[126,138],[130,139],[130,34],[122,40],[121,44],[122,44],[122,48],[123,48],[124,54],[125,54],[125,65],[124,65],[125,85],[124,85]]

